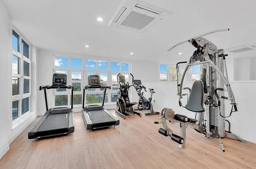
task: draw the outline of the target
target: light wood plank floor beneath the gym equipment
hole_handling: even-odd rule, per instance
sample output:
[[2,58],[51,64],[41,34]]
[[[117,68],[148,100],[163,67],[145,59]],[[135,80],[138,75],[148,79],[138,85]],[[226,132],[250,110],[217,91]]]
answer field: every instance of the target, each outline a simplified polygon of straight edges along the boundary
[[[217,140],[187,129],[186,148],[158,134],[155,116],[130,116],[105,130],[86,130],[81,112],[74,113],[75,132],[58,138],[28,140],[36,118],[0,160],[1,169],[256,169],[256,144]],[[144,114],[144,113],[143,113]],[[170,125],[179,134],[178,125]]]

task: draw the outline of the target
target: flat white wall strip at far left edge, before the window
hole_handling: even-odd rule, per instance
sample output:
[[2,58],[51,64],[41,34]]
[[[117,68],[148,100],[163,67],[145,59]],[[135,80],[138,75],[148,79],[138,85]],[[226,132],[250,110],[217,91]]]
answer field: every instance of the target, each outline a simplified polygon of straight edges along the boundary
[[11,105],[11,56],[12,56],[12,20],[8,16],[5,6],[0,1],[0,158],[9,150],[8,131],[10,128],[9,113],[12,111]]

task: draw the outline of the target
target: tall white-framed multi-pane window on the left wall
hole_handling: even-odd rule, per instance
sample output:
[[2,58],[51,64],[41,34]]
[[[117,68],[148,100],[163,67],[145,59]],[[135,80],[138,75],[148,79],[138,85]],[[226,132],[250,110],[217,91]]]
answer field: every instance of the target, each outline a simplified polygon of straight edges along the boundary
[[12,120],[30,111],[30,46],[12,30]]

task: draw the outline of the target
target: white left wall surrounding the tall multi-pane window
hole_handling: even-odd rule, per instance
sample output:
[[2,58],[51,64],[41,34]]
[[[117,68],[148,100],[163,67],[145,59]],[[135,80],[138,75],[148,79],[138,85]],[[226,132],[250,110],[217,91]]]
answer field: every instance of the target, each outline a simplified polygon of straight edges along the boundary
[[[9,150],[9,144],[36,118],[36,52],[31,45],[32,95],[30,112],[12,121],[12,18],[0,1],[0,159]],[[20,35],[22,35],[20,33]]]

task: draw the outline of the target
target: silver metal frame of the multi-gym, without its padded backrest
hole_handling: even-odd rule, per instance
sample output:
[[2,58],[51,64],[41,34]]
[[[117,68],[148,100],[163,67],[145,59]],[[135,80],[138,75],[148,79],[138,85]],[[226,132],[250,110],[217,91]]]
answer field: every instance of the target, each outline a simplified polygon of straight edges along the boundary
[[[230,104],[232,104],[232,106],[235,107],[235,111],[237,111],[236,100],[235,100],[232,88],[230,86],[230,83],[228,81],[228,72],[227,72],[226,58],[225,58],[226,55],[224,55],[223,49],[217,50],[217,47],[213,43],[211,43],[207,39],[202,38],[202,36],[205,36],[205,35],[208,35],[211,33],[220,32],[220,31],[228,31],[228,30],[229,29],[219,29],[219,30],[210,31],[208,33],[204,33],[197,37],[191,38],[187,41],[178,43],[178,44],[172,46],[170,49],[168,49],[168,51],[170,51],[174,47],[181,45],[183,43],[186,43],[186,42],[190,42],[194,47],[197,48],[197,51],[195,51],[194,52],[195,54],[193,54],[193,56],[190,57],[190,61],[188,63],[187,62],[179,62],[176,65],[177,89],[178,89],[177,95],[179,96],[179,99],[181,99],[182,96],[185,95],[185,94],[182,94],[182,90],[184,90],[184,89],[190,90],[190,88],[182,88],[182,86],[183,86],[183,81],[184,81],[186,72],[188,71],[188,69],[191,66],[204,65],[204,68],[206,68],[206,70],[208,70],[206,75],[209,77],[209,79],[206,79],[207,93],[205,94],[204,100],[209,99],[210,103],[208,102],[208,104],[207,103],[205,104],[205,107],[207,107],[205,109],[206,110],[205,112],[197,113],[197,116],[196,116],[197,120],[190,119],[189,122],[181,122],[181,121],[179,121],[179,119],[176,120],[176,115],[174,114],[174,111],[172,109],[164,108],[161,113],[162,117],[158,118],[159,120],[161,120],[161,122],[152,122],[152,123],[156,123],[156,124],[162,123],[163,127],[167,130],[168,134],[165,135],[166,133],[163,134],[162,131],[160,131],[160,134],[163,134],[165,136],[172,136],[172,134],[173,134],[173,131],[167,126],[167,123],[166,123],[167,120],[168,120],[168,122],[170,122],[172,124],[179,122],[180,123],[180,135],[184,139],[184,142],[182,144],[178,145],[179,149],[184,148],[185,139],[186,139],[186,128],[188,126],[190,126],[197,132],[202,133],[209,138],[217,138],[222,151],[225,151],[224,147],[226,147],[226,146],[222,143],[221,137],[225,137],[225,135],[227,138],[232,138],[232,139],[240,140],[242,142],[246,142],[245,140],[239,138],[238,136],[235,136],[232,133],[225,133],[225,124],[224,124],[225,117],[220,116],[220,111],[222,111],[222,113],[224,113],[224,102],[222,103],[222,106],[220,106],[219,99],[224,98],[224,99],[230,100],[230,102],[231,102]],[[178,64],[180,64],[180,63],[187,63],[187,65],[185,67],[184,73],[180,79],[180,84],[179,84]],[[216,79],[218,79],[218,83],[216,82]],[[226,89],[224,89],[224,85],[226,86]],[[218,87],[221,87],[221,88],[218,88]],[[219,98],[217,98],[217,100],[214,99],[215,95],[218,97],[218,94],[215,93],[214,88],[222,90],[222,91],[220,91],[220,95],[222,95],[222,96],[219,96]],[[223,96],[224,91],[228,92],[228,97]],[[186,94],[186,95],[188,95],[188,94]],[[182,106],[181,103],[180,103],[180,106]],[[215,107],[215,106],[217,106],[217,107]],[[216,110],[214,110],[214,107],[218,108],[218,106],[220,106],[221,109],[216,112]],[[218,115],[217,115],[218,121],[216,121],[216,122],[214,121],[213,123],[211,123],[212,119],[210,118],[210,116],[214,116],[214,120],[215,120],[215,118],[216,118],[215,113],[218,113]],[[183,116],[183,115],[179,115],[179,116]]]

